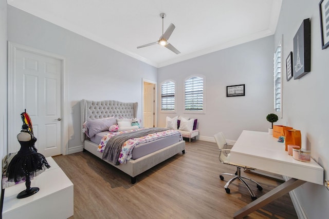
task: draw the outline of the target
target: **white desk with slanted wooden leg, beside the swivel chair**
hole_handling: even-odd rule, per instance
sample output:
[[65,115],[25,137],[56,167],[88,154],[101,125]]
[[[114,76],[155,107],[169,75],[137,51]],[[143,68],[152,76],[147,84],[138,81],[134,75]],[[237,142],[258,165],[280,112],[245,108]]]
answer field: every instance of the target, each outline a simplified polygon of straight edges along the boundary
[[267,132],[244,130],[231,149],[230,161],[291,177],[237,211],[234,218],[242,218],[306,182],[323,185],[323,168],[320,165],[313,159],[309,163],[295,160],[285,151],[285,144],[279,143]]

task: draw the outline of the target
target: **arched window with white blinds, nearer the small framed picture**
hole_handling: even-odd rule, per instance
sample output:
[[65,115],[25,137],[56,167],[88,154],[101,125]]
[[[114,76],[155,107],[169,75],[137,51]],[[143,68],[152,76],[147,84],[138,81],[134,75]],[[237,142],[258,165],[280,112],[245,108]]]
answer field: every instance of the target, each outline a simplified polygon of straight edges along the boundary
[[185,81],[185,110],[204,111],[204,78],[191,77]]

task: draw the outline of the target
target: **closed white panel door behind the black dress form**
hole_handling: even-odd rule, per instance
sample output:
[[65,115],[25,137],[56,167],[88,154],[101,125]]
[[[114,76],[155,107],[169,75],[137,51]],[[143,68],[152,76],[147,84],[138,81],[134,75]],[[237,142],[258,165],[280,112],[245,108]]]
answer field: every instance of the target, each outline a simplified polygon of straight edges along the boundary
[[[30,115],[35,148],[45,157],[61,154],[61,61],[16,50],[14,80],[15,133],[22,128],[20,114]],[[20,149],[9,146],[9,152]]]

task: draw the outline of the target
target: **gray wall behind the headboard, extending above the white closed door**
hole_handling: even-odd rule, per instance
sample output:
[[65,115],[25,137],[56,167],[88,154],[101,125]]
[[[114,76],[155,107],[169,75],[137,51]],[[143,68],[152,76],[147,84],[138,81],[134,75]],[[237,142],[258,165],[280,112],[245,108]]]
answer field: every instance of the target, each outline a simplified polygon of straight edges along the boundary
[[[67,59],[69,149],[81,146],[80,100],[138,102],[142,118],[142,78],[157,81],[157,69],[17,8],[8,6],[8,41]],[[69,113],[70,109],[65,109]]]

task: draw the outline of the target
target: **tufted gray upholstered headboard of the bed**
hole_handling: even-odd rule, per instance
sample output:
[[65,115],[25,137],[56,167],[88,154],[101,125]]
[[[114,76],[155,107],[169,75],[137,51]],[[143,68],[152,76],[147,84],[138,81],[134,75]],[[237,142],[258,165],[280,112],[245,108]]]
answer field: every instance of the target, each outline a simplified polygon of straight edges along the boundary
[[[119,101],[87,101],[82,99],[81,104],[81,127],[88,120],[97,118],[107,118],[111,116],[136,118],[138,103],[123,103]],[[85,140],[85,135],[81,135],[81,140]]]

